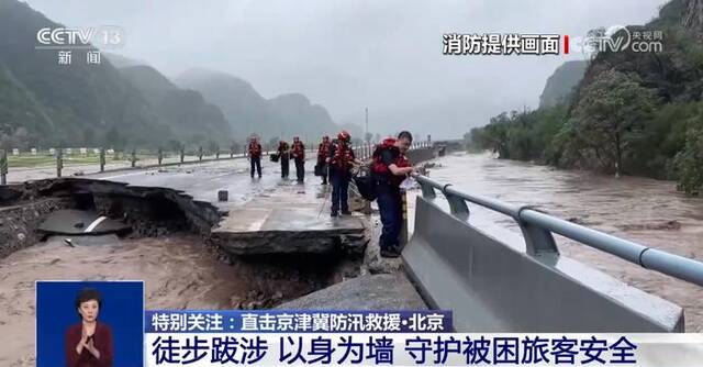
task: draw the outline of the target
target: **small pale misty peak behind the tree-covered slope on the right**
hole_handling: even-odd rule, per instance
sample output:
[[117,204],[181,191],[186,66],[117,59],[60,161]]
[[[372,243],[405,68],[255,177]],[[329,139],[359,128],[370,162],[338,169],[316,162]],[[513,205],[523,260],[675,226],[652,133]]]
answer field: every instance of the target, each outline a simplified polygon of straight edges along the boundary
[[573,88],[583,79],[588,64],[585,60],[566,62],[547,79],[545,89],[539,96],[539,107],[553,107],[563,102]]

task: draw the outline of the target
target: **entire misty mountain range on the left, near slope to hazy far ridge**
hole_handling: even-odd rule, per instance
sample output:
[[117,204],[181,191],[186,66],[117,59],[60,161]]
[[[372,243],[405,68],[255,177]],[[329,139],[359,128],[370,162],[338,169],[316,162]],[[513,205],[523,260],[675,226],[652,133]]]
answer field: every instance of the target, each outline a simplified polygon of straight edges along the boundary
[[224,73],[194,69],[174,84],[118,54],[101,52],[89,65],[87,49],[71,49],[70,65],[59,65],[57,49],[35,46],[38,30],[60,26],[24,2],[0,0],[1,147],[225,146],[252,133],[316,141],[339,130],[303,94],[267,100]]

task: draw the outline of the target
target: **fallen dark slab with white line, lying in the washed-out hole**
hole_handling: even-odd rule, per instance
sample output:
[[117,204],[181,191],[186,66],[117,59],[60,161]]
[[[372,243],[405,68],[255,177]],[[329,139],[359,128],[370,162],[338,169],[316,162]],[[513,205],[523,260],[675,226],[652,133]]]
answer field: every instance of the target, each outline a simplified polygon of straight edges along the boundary
[[92,210],[64,209],[52,212],[36,229],[45,234],[98,235],[127,233],[129,224],[98,214]]

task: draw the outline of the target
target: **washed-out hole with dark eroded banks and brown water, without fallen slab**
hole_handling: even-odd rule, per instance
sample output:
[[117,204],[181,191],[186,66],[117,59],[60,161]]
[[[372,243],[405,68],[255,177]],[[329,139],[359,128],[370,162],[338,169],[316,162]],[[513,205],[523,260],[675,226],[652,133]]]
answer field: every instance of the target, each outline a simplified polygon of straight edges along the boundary
[[[58,210],[127,223],[131,232],[68,236],[37,231]],[[48,179],[0,187],[0,365],[32,365],[34,282],[145,281],[149,309],[272,308],[355,277],[362,255],[235,256],[209,240],[225,212],[185,192],[104,180]],[[69,244],[66,238],[71,237]]]

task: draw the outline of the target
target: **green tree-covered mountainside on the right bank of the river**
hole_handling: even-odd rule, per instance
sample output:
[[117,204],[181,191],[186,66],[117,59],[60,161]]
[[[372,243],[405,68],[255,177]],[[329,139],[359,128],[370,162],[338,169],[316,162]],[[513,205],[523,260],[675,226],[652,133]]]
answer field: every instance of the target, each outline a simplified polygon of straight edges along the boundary
[[648,52],[600,49],[561,103],[504,112],[467,137],[503,158],[672,178],[682,190],[700,192],[703,0],[672,0],[649,24],[627,26],[611,37],[647,41],[645,34],[659,45],[648,43]]

